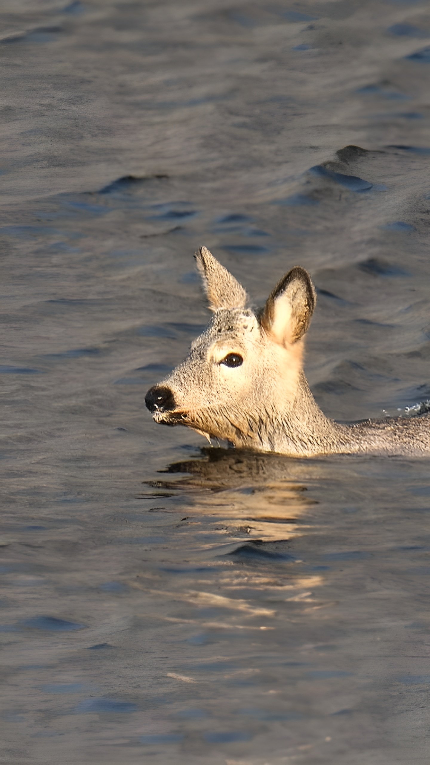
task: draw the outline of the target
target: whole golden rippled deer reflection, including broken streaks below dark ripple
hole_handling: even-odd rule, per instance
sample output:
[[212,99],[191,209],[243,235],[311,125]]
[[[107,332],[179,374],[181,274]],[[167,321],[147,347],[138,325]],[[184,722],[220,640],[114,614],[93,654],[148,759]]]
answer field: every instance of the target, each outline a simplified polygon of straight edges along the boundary
[[200,458],[161,472],[165,480],[146,485],[161,496],[181,497],[187,516],[178,523],[181,563],[175,558],[175,565],[183,566],[185,558],[189,568],[181,568],[181,581],[169,580],[169,591],[153,594],[222,610],[216,621],[196,620],[192,611],[165,619],[210,630],[272,630],[277,609],[270,601],[281,593],[283,601],[297,601],[296,607],[315,607],[313,589],[323,580],[295,565],[301,562],[295,539],[307,533],[308,516],[318,504],[308,495],[321,477],[318,461],[292,463],[275,454],[204,448]]

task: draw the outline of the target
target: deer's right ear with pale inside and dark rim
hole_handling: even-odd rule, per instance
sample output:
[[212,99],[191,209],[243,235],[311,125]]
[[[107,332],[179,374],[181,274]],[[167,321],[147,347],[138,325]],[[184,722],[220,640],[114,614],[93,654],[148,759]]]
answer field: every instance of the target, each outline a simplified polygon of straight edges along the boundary
[[295,343],[308,331],[316,302],[311,277],[295,265],[269,295],[260,324],[276,343]]

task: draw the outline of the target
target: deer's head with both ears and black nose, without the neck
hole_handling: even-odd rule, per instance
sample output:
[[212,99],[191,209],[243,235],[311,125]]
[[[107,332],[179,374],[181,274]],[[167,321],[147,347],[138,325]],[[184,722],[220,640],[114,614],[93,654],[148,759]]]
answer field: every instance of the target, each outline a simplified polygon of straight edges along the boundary
[[311,278],[295,266],[265,307],[254,311],[242,285],[206,247],[195,258],[213,317],[187,358],[148,391],[145,403],[155,422],[278,451],[288,421],[301,417],[299,394],[307,389],[304,336],[316,302]]

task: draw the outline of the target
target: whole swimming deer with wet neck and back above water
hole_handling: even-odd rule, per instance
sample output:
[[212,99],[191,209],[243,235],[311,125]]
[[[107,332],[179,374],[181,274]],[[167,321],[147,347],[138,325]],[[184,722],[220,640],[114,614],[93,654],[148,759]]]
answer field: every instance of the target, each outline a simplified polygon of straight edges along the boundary
[[148,390],[155,422],[294,457],[430,454],[430,414],[344,425],[321,412],[303,371],[316,304],[305,269],[288,271],[253,311],[242,285],[206,247],[195,258],[213,317],[187,358]]

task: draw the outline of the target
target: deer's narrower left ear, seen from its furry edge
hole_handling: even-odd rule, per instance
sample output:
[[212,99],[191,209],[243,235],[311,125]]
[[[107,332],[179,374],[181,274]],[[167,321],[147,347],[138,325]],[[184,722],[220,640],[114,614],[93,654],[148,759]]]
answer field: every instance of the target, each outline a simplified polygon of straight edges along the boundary
[[206,247],[200,247],[194,258],[203,279],[211,311],[217,311],[218,308],[245,308],[248,295],[243,286],[239,285],[234,276],[224,269]]

